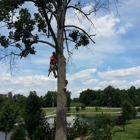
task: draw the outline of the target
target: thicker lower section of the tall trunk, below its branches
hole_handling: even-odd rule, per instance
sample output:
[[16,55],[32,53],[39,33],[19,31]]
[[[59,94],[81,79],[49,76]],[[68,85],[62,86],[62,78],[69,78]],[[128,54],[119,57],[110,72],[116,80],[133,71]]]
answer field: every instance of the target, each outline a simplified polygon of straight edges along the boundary
[[58,82],[57,82],[57,112],[55,140],[67,140],[66,133],[66,92],[65,74],[66,62],[63,55],[58,56]]

